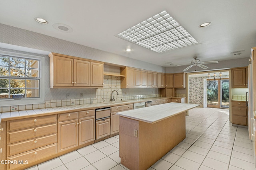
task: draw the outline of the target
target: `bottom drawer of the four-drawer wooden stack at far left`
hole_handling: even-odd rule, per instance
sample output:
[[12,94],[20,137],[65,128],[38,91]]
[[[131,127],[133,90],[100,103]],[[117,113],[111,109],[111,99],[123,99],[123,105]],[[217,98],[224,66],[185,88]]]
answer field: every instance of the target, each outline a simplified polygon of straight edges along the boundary
[[25,164],[25,161],[27,161],[28,163],[32,163],[38,159],[45,158],[53,154],[57,154],[58,153],[57,150],[58,150],[58,145],[57,143],[54,143],[52,145],[48,145],[42,148],[30,150],[28,152],[7,157],[7,160],[12,160],[12,161],[17,160],[17,164],[7,164],[7,169],[13,169],[13,168],[22,166],[22,163],[18,164],[18,161],[23,161],[24,164]]

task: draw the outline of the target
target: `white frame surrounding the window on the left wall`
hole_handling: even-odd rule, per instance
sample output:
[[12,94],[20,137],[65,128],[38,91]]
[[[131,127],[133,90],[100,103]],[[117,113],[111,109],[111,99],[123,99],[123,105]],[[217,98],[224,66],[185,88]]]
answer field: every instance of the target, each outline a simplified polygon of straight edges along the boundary
[[36,56],[36,55],[27,55],[22,53],[14,53],[8,51],[1,51],[0,55],[8,55],[11,57],[21,57],[28,59],[36,59],[39,60],[39,79],[40,79],[40,97],[39,98],[19,98],[18,100],[10,98],[0,100],[0,107],[2,106],[18,106],[18,105],[27,105],[27,104],[44,104],[45,99],[45,84],[44,84],[44,57]]

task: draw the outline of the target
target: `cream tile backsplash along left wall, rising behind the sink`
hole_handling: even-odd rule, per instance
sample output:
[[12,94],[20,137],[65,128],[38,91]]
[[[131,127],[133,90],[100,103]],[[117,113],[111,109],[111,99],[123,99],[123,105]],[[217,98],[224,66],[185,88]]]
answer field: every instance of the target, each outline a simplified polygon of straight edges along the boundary
[[[60,107],[60,106],[72,106],[72,105],[79,105],[79,104],[109,102],[111,98],[111,92],[113,90],[116,90],[118,92],[118,95],[116,92],[113,93],[115,101],[160,97],[160,94],[158,94],[158,89],[127,90],[127,89],[121,89],[120,86],[121,86],[120,76],[104,75],[104,86],[103,88],[95,89],[94,98],[46,100],[45,103],[43,104],[4,106],[4,107],[0,107],[0,113],[7,112],[7,111],[41,109],[41,108],[48,108],[48,107]],[[123,91],[125,92],[123,93]],[[141,94],[138,94],[138,92],[140,92]]]

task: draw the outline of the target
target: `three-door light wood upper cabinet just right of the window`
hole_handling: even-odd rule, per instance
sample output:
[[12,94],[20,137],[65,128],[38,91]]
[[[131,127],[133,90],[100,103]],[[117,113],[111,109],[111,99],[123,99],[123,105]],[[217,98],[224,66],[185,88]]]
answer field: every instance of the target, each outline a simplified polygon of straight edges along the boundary
[[50,53],[50,88],[103,87],[102,62]]

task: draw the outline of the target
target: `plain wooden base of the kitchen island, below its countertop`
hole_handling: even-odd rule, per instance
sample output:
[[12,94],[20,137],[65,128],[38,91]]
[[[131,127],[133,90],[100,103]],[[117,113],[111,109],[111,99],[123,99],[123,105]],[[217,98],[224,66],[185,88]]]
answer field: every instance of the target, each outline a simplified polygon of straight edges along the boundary
[[[156,123],[138,121],[138,137],[134,137],[135,127],[128,125],[136,120],[120,116],[121,119],[124,121],[120,122],[120,127],[130,132],[125,136],[127,138],[124,138],[123,131],[119,132],[121,164],[130,170],[147,170],[186,138],[185,112]],[[136,143],[131,144],[134,141]]]

